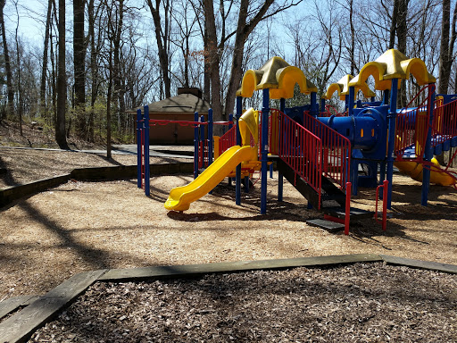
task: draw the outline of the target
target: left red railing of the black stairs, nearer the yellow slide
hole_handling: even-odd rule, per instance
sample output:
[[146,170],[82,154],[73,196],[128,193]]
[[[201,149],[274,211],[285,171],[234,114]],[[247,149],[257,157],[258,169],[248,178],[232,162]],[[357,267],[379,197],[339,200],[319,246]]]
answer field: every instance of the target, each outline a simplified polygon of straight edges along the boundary
[[[276,124],[275,124],[276,125]],[[278,155],[321,195],[322,142],[319,137],[284,113],[278,115],[281,135],[278,137]]]

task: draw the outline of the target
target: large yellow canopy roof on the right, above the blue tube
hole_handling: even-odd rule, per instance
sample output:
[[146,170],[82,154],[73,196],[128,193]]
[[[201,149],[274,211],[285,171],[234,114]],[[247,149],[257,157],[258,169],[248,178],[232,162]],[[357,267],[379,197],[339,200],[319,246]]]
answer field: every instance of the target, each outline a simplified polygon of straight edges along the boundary
[[436,82],[420,58],[408,58],[396,49],[387,50],[376,61],[366,63],[361,72],[349,82],[349,86],[360,86],[370,75],[375,79],[375,89],[386,90],[391,87],[391,79],[410,79],[413,75],[420,86]]

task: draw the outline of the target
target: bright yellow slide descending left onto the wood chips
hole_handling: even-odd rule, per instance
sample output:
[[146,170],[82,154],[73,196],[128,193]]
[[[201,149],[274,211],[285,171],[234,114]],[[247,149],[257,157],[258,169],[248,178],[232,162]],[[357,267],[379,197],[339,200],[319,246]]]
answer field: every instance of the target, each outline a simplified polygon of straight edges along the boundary
[[239,163],[257,159],[257,149],[232,146],[187,186],[173,188],[165,202],[167,210],[186,211],[190,203],[204,197],[233,171]]

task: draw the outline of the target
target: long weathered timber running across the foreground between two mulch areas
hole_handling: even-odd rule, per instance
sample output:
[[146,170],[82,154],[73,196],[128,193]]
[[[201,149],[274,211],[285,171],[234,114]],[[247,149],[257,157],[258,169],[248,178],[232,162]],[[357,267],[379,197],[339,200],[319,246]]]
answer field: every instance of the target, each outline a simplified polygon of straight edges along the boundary
[[329,264],[353,264],[382,261],[379,255],[355,254],[320,257],[300,257],[278,260],[222,262],[217,264],[162,265],[134,269],[111,269],[99,278],[108,280],[142,280],[151,278],[186,277],[211,272],[246,272],[259,269],[286,269]]

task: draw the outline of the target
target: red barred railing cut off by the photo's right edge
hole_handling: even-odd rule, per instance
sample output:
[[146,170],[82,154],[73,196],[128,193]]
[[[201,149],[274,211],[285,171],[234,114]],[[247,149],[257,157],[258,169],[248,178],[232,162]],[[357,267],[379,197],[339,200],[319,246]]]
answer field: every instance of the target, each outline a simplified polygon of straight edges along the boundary
[[457,136],[457,100],[438,103],[433,113],[432,146],[437,146]]

